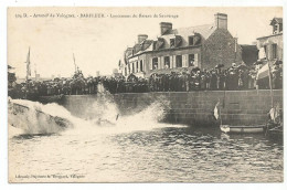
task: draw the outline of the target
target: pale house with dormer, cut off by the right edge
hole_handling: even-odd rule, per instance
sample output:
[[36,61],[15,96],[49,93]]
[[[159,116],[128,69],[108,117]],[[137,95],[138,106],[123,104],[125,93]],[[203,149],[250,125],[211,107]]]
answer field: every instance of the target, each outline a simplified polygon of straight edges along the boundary
[[258,38],[257,49],[264,49],[267,60],[283,61],[283,18],[274,18],[270,25],[272,34]]

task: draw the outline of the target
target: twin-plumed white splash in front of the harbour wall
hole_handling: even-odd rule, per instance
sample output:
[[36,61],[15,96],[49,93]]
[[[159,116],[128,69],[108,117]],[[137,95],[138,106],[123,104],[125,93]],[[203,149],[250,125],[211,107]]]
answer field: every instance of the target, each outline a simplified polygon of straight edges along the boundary
[[[94,113],[92,119],[81,123],[75,130],[68,133],[81,133],[86,135],[131,133],[137,130],[152,130],[166,127],[185,127],[183,125],[172,125],[161,123],[166,117],[166,109],[170,102],[163,96],[159,96],[153,103],[139,110],[130,110],[128,115],[120,115],[113,96],[98,97],[92,104],[88,112]],[[83,128],[83,125],[85,127]]]

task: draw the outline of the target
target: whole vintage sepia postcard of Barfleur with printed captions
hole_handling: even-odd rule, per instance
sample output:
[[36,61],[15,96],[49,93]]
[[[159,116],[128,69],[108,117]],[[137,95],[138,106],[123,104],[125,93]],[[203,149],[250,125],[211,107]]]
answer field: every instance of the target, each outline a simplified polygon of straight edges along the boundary
[[8,8],[9,182],[284,182],[281,7]]

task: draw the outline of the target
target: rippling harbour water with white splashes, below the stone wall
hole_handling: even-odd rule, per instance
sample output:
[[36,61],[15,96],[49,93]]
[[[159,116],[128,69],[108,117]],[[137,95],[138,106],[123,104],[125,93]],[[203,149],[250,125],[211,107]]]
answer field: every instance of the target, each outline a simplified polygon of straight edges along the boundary
[[[117,118],[117,106],[98,99],[88,107],[95,112],[91,119],[57,104],[12,102],[31,112],[9,113],[11,182],[283,181],[281,138],[164,124],[162,102]],[[35,110],[73,125],[51,127],[51,120],[35,118]]]

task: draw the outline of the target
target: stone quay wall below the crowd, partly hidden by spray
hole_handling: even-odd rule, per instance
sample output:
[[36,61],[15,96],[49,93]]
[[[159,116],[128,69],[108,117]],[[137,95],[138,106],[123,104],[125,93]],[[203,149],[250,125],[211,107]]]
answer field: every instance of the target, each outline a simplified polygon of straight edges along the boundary
[[[283,107],[283,91],[276,89],[274,104]],[[50,97],[51,98],[51,97]],[[93,117],[92,105],[98,97],[96,95],[63,96],[59,101],[49,101],[41,97],[40,102],[59,102],[73,115],[88,118]],[[267,122],[267,113],[272,107],[270,91],[206,91],[206,92],[162,92],[162,93],[127,93],[114,95],[114,102],[123,115],[134,114],[144,109],[153,102],[167,104],[164,122],[190,125],[219,124],[213,110],[220,102],[220,112],[223,124],[227,125],[256,125]],[[95,108],[95,107],[94,107]]]

